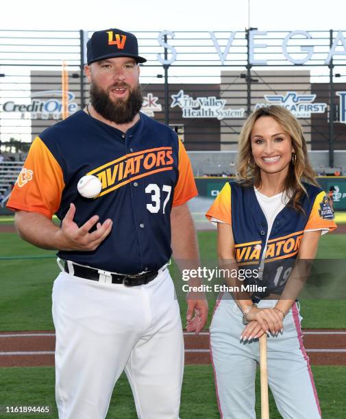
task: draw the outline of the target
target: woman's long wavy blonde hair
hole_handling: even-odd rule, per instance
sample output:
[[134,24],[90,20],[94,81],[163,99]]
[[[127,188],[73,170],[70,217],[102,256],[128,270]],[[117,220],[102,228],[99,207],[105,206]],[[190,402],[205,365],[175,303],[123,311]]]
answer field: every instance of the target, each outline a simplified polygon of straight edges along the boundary
[[259,188],[262,183],[260,168],[255,164],[254,156],[251,152],[251,131],[254,128],[256,120],[261,116],[271,116],[291,137],[294,153],[288,169],[288,176],[284,181],[283,190],[291,196],[291,202],[288,205],[293,206],[301,212],[299,201],[301,196],[307,193],[302,181],[308,181],[308,183],[318,185],[314,179],[314,170],[310,166],[308,159],[306,140],[301,125],[295,116],[284,107],[275,105],[261,107],[245,121],[240,132],[238,145],[238,161],[236,164],[238,180],[242,181],[244,186],[256,186],[256,188]]

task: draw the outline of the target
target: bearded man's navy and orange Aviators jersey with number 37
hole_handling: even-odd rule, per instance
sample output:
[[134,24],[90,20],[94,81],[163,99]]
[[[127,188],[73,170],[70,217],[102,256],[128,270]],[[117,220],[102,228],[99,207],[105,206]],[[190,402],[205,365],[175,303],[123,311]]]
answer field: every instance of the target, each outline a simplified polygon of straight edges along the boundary
[[[83,198],[77,183],[95,175],[102,190]],[[92,252],[59,251],[62,259],[112,272],[157,270],[171,257],[171,208],[197,195],[187,153],[175,132],[140,114],[126,134],[79,111],[37,137],[8,201],[12,210],[62,220],[70,203],[82,226],[97,214],[113,220]],[[111,257],[110,257],[111,255]]]

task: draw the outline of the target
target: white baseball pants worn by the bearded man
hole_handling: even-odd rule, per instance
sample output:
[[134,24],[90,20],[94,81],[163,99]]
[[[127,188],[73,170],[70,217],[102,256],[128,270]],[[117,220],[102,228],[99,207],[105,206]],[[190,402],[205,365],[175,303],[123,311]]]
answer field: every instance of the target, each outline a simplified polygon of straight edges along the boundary
[[60,419],[106,418],[123,370],[138,418],[179,417],[184,341],[168,269],[132,288],[61,272],[52,298]]

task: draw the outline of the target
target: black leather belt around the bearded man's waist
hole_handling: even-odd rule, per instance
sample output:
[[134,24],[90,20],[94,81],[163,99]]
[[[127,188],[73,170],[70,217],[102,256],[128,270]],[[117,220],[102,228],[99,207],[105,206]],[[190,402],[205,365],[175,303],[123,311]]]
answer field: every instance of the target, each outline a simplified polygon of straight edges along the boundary
[[70,275],[74,275],[75,277],[80,277],[84,279],[91,279],[92,281],[101,281],[102,277],[109,277],[112,278],[112,283],[121,283],[126,287],[138,287],[138,285],[143,285],[145,283],[153,281],[153,279],[155,279],[158,276],[157,270],[151,270],[150,272],[145,272],[140,275],[122,275],[112,272],[106,272],[97,268],[88,268],[87,266],[76,265],[73,264],[73,262],[72,266],[73,272],[71,272],[72,269],[69,269],[69,264],[67,263],[67,261],[64,261],[64,270]]

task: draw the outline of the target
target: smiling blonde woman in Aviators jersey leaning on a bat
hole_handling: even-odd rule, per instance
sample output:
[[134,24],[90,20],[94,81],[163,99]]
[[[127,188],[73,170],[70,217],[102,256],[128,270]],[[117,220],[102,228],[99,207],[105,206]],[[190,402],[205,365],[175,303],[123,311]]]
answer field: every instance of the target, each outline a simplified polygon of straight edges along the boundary
[[206,214],[217,223],[220,265],[251,273],[227,278],[234,286],[219,296],[210,326],[220,414],[256,417],[258,338],[268,333],[269,385],[281,416],[320,418],[296,297],[321,234],[336,225],[291,112],[270,106],[249,116],[237,168],[238,181],[225,184]]

